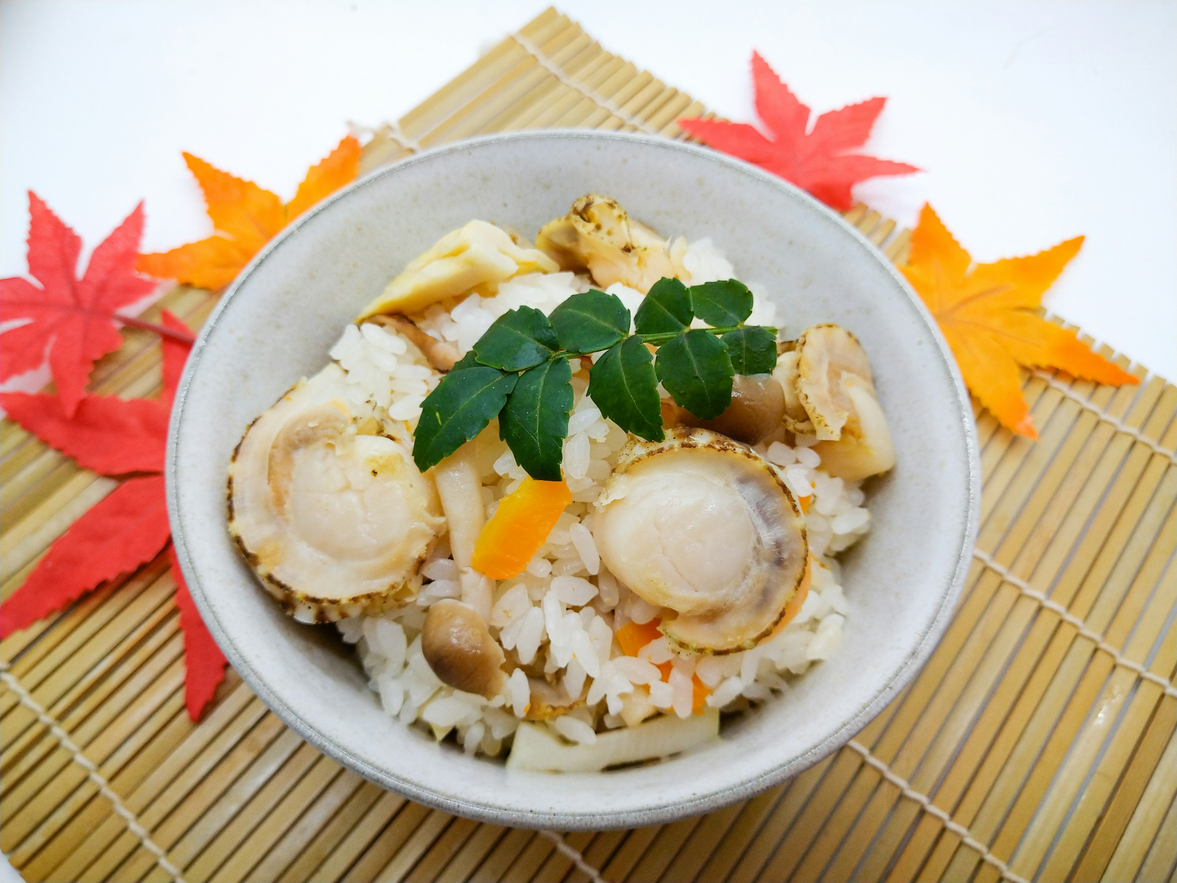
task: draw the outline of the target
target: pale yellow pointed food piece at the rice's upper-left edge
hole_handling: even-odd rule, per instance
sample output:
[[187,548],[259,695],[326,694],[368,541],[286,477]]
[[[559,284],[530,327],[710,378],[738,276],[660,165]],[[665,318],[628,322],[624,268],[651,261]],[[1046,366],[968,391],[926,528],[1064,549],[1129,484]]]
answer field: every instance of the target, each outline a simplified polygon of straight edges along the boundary
[[525,248],[493,224],[472,220],[447,233],[408,263],[360,319],[378,313],[413,313],[446,298],[474,291],[487,294],[504,279],[524,273],[554,273],[556,264],[536,248]]

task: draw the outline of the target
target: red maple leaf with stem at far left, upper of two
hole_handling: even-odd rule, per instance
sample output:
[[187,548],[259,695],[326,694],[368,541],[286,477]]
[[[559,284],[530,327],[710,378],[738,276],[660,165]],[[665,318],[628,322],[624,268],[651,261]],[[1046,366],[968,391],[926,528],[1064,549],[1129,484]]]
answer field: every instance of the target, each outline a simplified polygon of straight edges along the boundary
[[78,234],[32,191],[28,214],[28,272],[40,286],[21,277],[0,279],[0,321],[22,323],[4,332],[0,380],[32,371],[47,354],[61,412],[72,418],[94,363],[122,345],[119,325],[147,327],[189,343],[192,336],[115,314],[155,287],[134,272],[144,227],[141,203],[94,248],[81,279],[75,277],[81,251]]

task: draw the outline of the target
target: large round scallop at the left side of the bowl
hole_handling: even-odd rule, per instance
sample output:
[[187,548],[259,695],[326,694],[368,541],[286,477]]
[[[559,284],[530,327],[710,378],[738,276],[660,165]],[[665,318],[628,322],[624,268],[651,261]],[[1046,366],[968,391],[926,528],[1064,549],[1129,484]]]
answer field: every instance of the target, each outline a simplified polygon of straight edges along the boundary
[[228,472],[228,530],[300,622],[378,613],[417,596],[445,519],[433,483],[375,426],[338,365],[246,430]]

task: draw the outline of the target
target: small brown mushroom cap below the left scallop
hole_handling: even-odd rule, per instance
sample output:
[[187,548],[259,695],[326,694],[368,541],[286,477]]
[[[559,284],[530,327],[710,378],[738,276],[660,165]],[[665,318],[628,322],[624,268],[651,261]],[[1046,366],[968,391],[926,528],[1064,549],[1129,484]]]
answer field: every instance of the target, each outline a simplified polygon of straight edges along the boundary
[[506,682],[506,656],[486,620],[468,604],[444,598],[430,608],[421,629],[421,653],[443,683],[487,699]]

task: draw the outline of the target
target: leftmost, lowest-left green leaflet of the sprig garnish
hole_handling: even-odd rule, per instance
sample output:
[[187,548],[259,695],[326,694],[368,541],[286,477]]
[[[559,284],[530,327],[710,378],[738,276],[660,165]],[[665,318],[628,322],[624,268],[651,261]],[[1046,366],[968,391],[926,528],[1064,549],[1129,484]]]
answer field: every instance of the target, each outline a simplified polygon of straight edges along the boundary
[[477,366],[451,371],[421,403],[413,462],[424,472],[457,451],[503,410],[518,374]]

